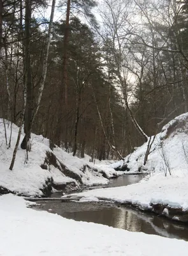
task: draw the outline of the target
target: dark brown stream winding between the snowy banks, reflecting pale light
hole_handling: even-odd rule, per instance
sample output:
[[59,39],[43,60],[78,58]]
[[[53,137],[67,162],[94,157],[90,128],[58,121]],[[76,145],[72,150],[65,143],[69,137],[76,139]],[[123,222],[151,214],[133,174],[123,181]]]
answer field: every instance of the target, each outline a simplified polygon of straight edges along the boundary
[[[107,186],[92,186],[89,189],[127,186],[139,182],[142,178],[143,175],[124,175],[117,179],[111,179]],[[52,196],[61,197],[62,193],[55,193]],[[131,207],[118,207],[111,202],[79,203],[44,200],[34,208],[57,213],[76,221],[94,222],[133,232],[144,232],[188,241],[187,225],[170,221],[154,214],[141,212]]]

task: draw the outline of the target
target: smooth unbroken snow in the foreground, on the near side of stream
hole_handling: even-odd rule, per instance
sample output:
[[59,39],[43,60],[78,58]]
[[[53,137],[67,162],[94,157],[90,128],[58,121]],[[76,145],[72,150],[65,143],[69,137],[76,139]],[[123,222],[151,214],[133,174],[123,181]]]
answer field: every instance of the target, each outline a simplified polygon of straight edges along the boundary
[[25,207],[23,198],[0,196],[2,256],[187,256],[188,243],[129,232]]

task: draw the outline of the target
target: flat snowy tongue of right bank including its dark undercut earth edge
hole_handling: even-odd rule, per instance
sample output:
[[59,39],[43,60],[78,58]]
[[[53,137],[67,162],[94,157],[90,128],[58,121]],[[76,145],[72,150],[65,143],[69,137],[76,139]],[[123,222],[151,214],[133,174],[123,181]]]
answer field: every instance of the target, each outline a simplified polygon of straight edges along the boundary
[[164,177],[162,174],[119,188],[94,189],[62,196],[72,200],[108,200],[132,205],[141,211],[155,212],[171,220],[188,223],[187,177]]

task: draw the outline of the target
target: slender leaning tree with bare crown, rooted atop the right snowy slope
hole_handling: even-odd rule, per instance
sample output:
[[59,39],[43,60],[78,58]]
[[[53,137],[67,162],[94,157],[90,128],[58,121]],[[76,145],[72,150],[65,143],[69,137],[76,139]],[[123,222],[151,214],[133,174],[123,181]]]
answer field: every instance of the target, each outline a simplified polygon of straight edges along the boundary
[[[134,127],[139,132],[141,137],[147,141],[148,136],[143,132],[140,125],[134,118],[133,112],[129,107],[128,102],[128,86],[127,86],[127,78],[126,78],[126,70],[124,68],[124,60],[126,59],[127,52],[129,49],[126,47],[127,38],[122,36],[122,33],[127,29],[128,19],[129,19],[129,9],[130,4],[129,1],[123,3],[122,1],[113,1],[113,0],[105,0],[105,8],[107,12],[103,12],[101,10],[101,15],[103,18],[103,24],[108,31],[108,37],[113,42],[113,54],[115,58],[115,62],[117,65],[117,77],[119,79],[119,85],[121,88],[122,95],[124,97],[124,105],[129,113],[129,116],[134,124]],[[126,17],[126,19],[125,19]],[[127,33],[127,32],[126,32]],[[126,34],[129,36],[129,33]],[[103,40],[105,36],[102,36]]]

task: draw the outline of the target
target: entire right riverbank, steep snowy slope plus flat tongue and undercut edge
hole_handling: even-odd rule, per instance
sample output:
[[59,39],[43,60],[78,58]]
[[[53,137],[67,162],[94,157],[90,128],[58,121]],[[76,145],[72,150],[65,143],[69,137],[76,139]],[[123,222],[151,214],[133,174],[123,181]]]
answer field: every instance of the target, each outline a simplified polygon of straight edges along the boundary
[[92,196],[99,200],[111,200],[188,223],[187,133],[188,113],[185,113],[164,125],[161,132],[141,147],[135,148],[132,154],[126,156],[123,165],[122,162],[111,164],[113,168],[129,172],[148,171],[150,175],[138,184],[96,189],[66,197],[89,200]]

